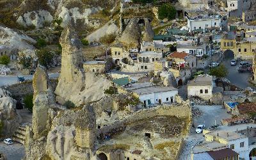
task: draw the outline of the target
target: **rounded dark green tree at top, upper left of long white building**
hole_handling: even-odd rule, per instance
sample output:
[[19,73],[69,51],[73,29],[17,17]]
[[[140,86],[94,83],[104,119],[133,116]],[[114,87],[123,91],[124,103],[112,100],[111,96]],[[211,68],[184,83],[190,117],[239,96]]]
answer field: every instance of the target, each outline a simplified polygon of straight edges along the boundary
[[172,20],[176,17],[177,10],[171,4],[162,4],[158,8],[159,19]]

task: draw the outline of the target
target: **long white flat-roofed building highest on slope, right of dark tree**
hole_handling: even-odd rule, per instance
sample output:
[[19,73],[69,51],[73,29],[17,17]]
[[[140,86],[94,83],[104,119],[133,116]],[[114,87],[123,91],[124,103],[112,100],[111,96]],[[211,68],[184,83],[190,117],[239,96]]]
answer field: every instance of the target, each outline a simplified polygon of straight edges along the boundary
[[216,16],[204,16],[204,17],[187,17],[189,32],[195,30],[202,30],[205,32],[207,28],[221,29],[221,17]]

